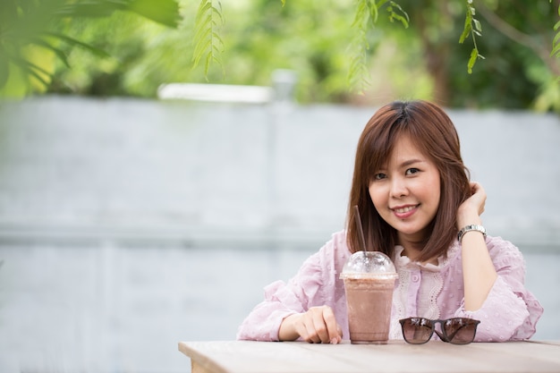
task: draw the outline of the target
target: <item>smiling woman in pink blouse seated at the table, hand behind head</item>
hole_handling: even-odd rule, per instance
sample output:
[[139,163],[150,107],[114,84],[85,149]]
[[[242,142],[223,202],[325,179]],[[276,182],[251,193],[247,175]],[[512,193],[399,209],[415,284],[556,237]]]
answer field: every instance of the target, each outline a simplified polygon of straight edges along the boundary
[[543,309],[524,287],[524,260],[511,242],[487,236],[486,193],[469,182],[454,124],[426,101],[381,107],[361,133],[347,227],[307,259],[287,284],[265,288],[238,339],[339,343],[348,339],[346,259],[366,245],[394,260],[391,339],[399,319],[476,318],[475,341],[530,338]]

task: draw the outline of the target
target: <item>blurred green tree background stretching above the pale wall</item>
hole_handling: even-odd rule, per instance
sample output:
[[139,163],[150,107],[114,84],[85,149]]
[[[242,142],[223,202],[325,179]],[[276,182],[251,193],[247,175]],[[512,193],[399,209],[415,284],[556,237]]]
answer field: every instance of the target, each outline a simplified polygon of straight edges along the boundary
[[[157,6],[161,0],[142,2]],[[359,34],[357,6],[364,2],[373,3],[179,0],[174,20],[182,21],[176,28],[146,14],[113,9],[102,18],[50,21],[50,31],[89,46],[57,40],[70,68],[44,47],[27,48],[25,54],[40,53],[33,61],[52,68],[44,69],[52,74],[47,91],[53,93],[156,97],[157,87],[166,82],[270,85],[276,69],[291,69],[298,76],[301,103],[378,105],[396,97],[420,97],[453,107],[560,113],[560,59],[552,53],[558,43],[557,0],[377,2],[385,7],[376,8],[377,21],[367,20]],[[201,13],[204,6],[206,13]],[[471,30],[465,33],[468,11]],[[200,14],[212,17],[210,49],[205,49],[211,55],[203,50],[208,38],[197,37],[197,31],[208,28],[208,18]],[[5,46],[0,32],[0,46]],[[356,49],[356,40],[362,49]],[[473,49],[485,59],[473,64]],[[352,75],[357,50],[363,71]],[[352,76],[364,83],[362,92],[355,90]],[[35,82],[31,91],[40,91],[39,86]]]

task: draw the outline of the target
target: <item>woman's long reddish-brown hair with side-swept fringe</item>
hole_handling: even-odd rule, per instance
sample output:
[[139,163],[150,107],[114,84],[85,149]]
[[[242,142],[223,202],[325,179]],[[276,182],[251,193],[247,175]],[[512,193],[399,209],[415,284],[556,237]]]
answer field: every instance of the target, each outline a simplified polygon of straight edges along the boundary
[[346,218],[347,242],[352,252],[361,250],[353,208],[357,205],[366,246],[393,258],[396,230],[379,216],[369,197],[369,183],[386,165],[402,134],[409,135],[414,145],[436,164],[441,181],[437,214],[418,258],[425,261],[446,254],[457,233],[457,208],[471,195],[470,174],[462,163],[454,124],[441,107],[427,101],[395,101],[383,106],[361,132]]

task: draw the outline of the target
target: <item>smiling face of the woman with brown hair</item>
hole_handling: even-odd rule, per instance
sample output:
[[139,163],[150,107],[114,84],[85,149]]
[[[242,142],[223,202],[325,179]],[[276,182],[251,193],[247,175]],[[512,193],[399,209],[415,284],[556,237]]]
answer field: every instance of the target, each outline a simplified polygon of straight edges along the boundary
[[420,242],[437,214],[439,171],[410,136],[401,135],[388,163],[369,183],[369,197],[379,215],[398,232],[401,244]]

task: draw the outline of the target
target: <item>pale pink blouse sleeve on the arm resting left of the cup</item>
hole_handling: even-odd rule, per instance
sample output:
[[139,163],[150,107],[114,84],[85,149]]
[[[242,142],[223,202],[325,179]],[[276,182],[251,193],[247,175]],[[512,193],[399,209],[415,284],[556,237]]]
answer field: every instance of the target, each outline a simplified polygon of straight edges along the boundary
[[243,320],[237,339],[278,341],[278,330],[284,318],[316,305],[322,284],[322,250],[325,248],[310,256],[287,284],[276,281],[265,287],[265,300]]

